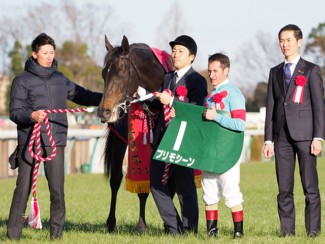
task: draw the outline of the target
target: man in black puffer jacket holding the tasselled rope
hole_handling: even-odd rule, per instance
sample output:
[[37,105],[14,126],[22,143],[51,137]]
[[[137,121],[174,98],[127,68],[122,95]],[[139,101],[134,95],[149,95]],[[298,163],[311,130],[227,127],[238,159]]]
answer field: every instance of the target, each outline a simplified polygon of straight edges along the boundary
[[[10,94],[10,119],[17,124],[18,176],[14,191],[7,234],[10,239],[20,239],[23,216],[32,186],[32,173],[36,160],[28,151],[28,144],[36,122],[44,121],[44,110],[67,109],[67,99],[79,105],[98,106],[101,93],[93,93],[69,80],[57,71],[54,58],[55,43],[45,33],[31,44],[32,56],[25,63],[25,71],[12,82]],[[44,162],[45,176],[50,190],[50,237],[60,239],[66,206],[64,203],[64,147],[67,144],[68,120],[66,113],[49,113],[49,125],[56,144],[56,156]],[[36,147],[36,146],[35,146]],[[34,152],[37,149],[34,148]],[[41,126],[41,157],[52,154],[44,123]],[[15,166],[12,168],[15,168]]]

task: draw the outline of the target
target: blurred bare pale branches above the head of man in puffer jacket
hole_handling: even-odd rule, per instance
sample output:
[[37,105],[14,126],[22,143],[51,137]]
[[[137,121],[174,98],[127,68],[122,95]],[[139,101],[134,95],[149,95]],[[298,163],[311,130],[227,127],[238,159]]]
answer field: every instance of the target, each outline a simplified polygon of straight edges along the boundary
[[[44,10],[46,14],[40,14]],[[86,44],[89,57],[102,65],[106,53],[105,34],[111,43],[115,43],[122,36],[124,26],[118,24],[116,16],[113,18],[108,5],[82,6],[68,0],[58,5],[35,2],[23,6],[7,17],[0,17],[0,62],[3,64],[0,72],[9,75],[8,53],[15,40],[19,40],[22,46],[30,46],[31,41],[42,32],[51,36],[58,47],[66,41]]]

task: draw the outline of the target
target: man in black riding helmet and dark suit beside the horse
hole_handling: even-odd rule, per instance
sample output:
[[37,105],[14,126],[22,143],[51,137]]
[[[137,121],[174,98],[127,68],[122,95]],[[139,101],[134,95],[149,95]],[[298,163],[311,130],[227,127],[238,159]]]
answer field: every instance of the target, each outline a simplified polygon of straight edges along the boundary
[[[153,159],[166,131],[163,105],[169,105],[172,108],[174,102],[177,101],[203,106],[204,98],[207,96],[206,79],[191,67],[197,54],[196,42],[189,36],[180,36],[169,44],[172,47],[172,59],[176,71],[166,74],[164,82],[158,90],[160,93],[149,103],[149,107],[158,108],[160,111],[150,160],[150,189],[159,214],[164,220],[167,233],[180,234],[188,231],[197,233],[199,207],[194,170],[174,164],[169,169],[169,177],[174,174],[176,178],[181,219],[169,194],[168,185],[161,182],[165,172],[165,163]],[[178,87],[182,87],[183,90],[187,89],[184,96],[180,96],[177,92]],[[174,97],[169,93],[162,93],[164,89],[171,90]]]

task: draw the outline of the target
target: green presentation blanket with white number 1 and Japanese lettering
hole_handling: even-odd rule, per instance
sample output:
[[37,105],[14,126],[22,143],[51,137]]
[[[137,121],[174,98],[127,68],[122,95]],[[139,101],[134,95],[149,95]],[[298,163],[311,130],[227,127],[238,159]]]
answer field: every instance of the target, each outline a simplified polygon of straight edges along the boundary
[[[239,160],[244,132],[231,131],[206,120],[205,107],[175,102],[172,118],[154,159],[214,173],[224,173]],[[231,117],[230,112],[217,110]]]

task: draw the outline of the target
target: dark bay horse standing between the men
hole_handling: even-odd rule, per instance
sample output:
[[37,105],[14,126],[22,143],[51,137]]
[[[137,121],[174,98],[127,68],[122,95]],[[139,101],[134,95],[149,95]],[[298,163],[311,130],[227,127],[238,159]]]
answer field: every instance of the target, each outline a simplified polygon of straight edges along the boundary
[[[120,114],[123,113],[121,109],[127,107],[139,85],[149,92],[158,90],[166,72],[146,44],[129,45],[124,36],[121,46],[113,48],[105,36],[105,46],[107,54],[102,71],[105,88],[98,116],[102,123],[115,123],[117,126],[127,127],[119,121]],[[122,163],[126,147],[127,144],[112,130],[109,130],[104,153],[105,173],[110,177],[112,191],[110,214],[106,222],[109,232],[112,232],[116,225],[116,197],[123,178]],[[140,218],[137,228],[139,233],[143,233],[146,230],[145,204],[148,193],[138,194],[138,197]]]

